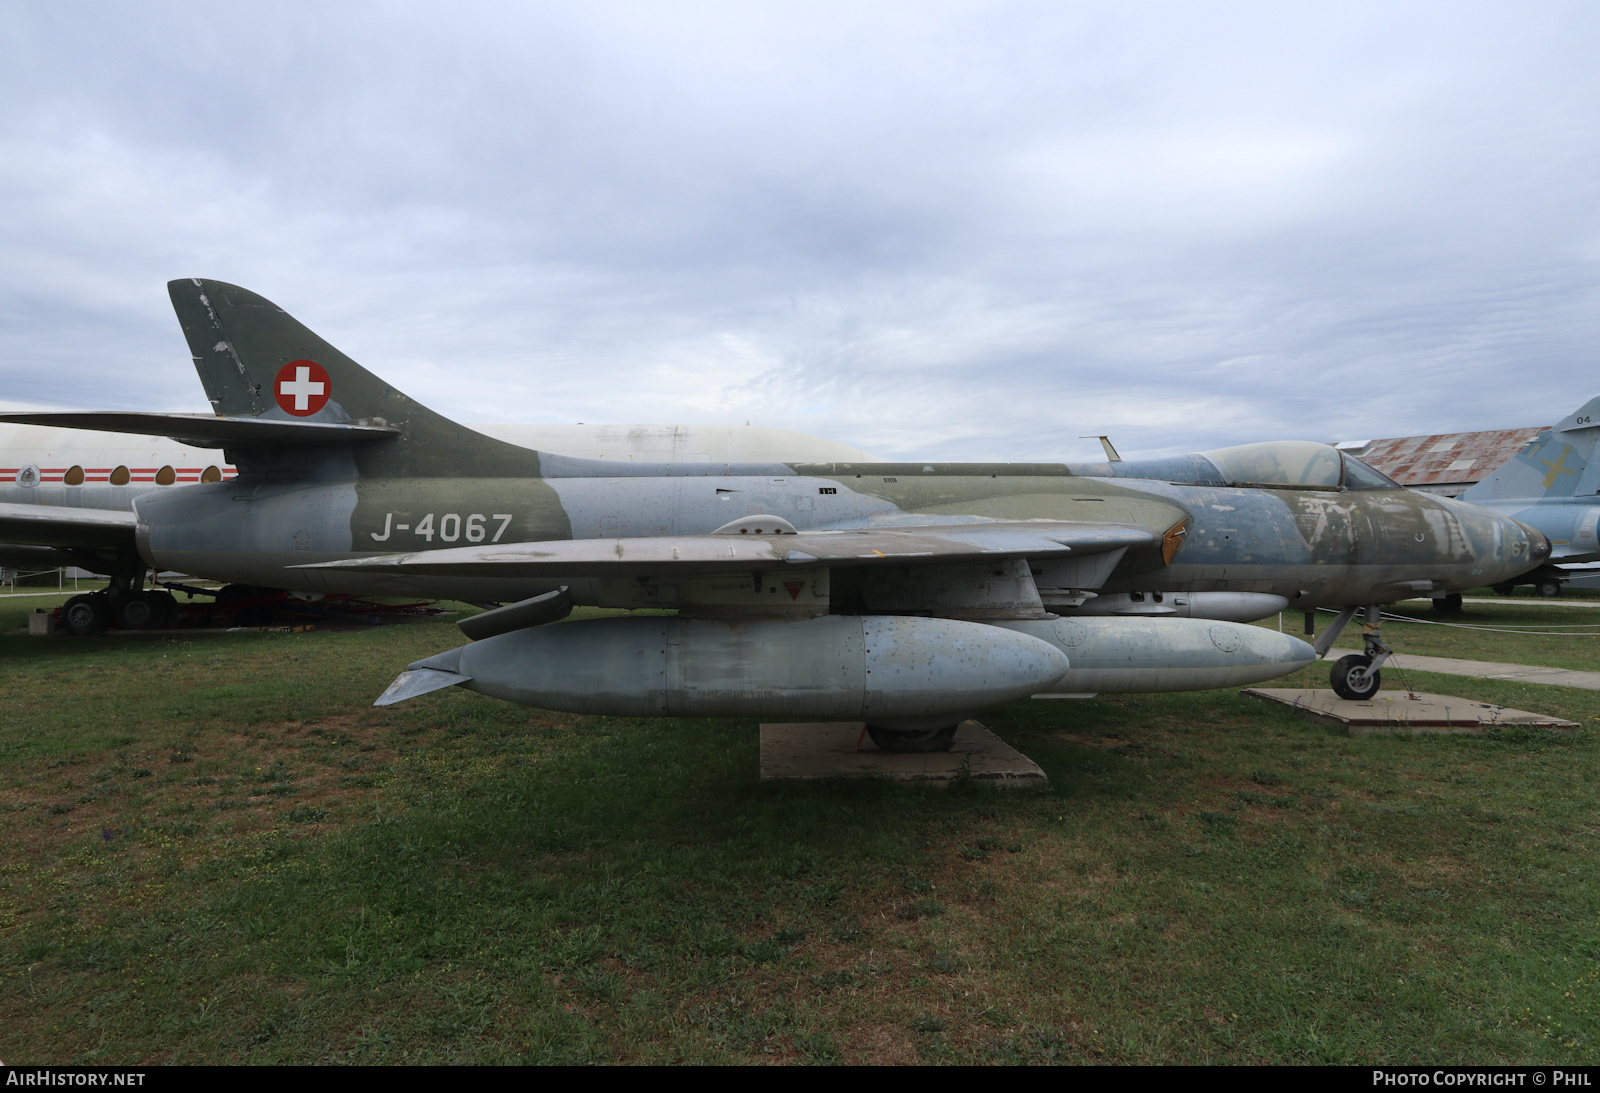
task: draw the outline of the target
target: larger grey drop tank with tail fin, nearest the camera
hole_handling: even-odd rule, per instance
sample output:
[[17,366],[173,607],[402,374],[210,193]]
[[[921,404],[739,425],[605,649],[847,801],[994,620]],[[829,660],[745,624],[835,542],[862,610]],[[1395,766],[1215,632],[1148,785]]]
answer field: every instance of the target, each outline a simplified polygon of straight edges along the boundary
[[1051,642],[960,619],[632,616],[501,634],[416,661],[379,704],[462,685],[616,717],[768,717],[942,728],[1050,688]]

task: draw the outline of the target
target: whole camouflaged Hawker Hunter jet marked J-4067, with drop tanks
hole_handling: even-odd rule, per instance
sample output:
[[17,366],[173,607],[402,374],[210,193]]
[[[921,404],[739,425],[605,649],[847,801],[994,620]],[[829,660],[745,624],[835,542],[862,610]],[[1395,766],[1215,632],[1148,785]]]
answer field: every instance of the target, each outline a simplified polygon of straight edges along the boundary
[[[1376,605],[1502,581],[1539,533],[1395,486],[1326,445],[1155,462],[629,464],[552,456],[458,426],[280,307],[168,285],[206,414],[0,414],[222,446],[238,477],[133,514],[6,504],[0,541],[94,549],[114,589],[149,567],[307,592],[501,603],[474,642],[381,701],[461,685],[547,709],[864,720],[885,747],[947,746],[992,703],[1272,679],[1315,653],[1227,619],[1370,607],[1354,695],[1387,656]],[[27,538],[19,538],[27,536]],[[675,615],[544,626],[573,605]]]

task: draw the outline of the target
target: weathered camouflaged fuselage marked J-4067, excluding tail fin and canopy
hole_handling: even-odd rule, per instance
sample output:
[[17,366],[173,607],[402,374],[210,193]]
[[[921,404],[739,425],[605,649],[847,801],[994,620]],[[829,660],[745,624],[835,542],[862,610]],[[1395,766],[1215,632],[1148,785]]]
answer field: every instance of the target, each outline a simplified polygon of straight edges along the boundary
[[[1077,475],[1064,464],[595,464],[542,474],[363,474],[323,453],[138,501],[141,551],[162,568],[291,589],[515,600],[590,581],[307,571],[373,554],[589,538],[706,534],[757,514],[802,530],[930,520],[1093,520],[1184,526],[1168,565],[1130,551],[1104,592],[1248,591],[1294,607],[1400,599],[1406,583],[1467,589],[1522,573],[1530,536],[1470,504],[1410,490],[1262,490]],[[621,474],[619,474],[621,470]],[[603,475],[603,477],[600,477]]]

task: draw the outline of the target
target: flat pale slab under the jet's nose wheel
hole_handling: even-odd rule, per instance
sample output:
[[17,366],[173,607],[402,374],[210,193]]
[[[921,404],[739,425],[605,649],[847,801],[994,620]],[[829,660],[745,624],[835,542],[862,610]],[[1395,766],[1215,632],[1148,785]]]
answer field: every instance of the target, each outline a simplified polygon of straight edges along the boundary
[[1333,691],[1291,690],[1280,687],[1246,687],[1240,695],[1282,703],[1302,714],[1334,725],[1342,725],[1350,736],[1371,733],[1469,733],[1482,735],[1491,728],[1549,728],[1570,733],[1578,722],[1523,709],[1474,703],[1453,695],[1424,695],[1421,691],[1378,691],[1365,703],[1339,698]]

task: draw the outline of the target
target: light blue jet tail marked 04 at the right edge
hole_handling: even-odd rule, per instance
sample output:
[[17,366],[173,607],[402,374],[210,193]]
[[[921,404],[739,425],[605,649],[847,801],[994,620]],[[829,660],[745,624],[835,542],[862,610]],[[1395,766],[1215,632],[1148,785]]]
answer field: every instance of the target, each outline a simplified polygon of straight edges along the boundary
[[1568,571],[1557,562],[1600,562],[1600,398],[1590,398],[1546,429],[1494,474],[1461,494],[1462,501],[1515,517],[1550,541],[1547,565],[1533,568],[1515,583],[1533,584],[1541,595],[1560,595]]

